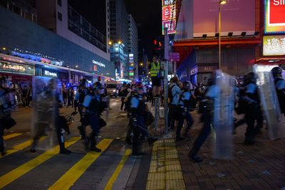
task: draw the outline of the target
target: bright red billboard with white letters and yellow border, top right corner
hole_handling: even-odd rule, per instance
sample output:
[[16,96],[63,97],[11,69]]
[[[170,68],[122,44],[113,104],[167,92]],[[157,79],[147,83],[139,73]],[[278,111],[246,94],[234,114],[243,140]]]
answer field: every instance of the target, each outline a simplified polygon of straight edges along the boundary
[[285,1],[265,0],[265,33],[285,33]]

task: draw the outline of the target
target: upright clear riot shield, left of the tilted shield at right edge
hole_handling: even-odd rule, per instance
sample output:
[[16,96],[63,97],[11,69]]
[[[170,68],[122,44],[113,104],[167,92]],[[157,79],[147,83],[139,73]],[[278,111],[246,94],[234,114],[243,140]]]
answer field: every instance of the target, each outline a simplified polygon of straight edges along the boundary
[[214,96],[214,158],[231,159],[234,129],[234,78],[215,71]]

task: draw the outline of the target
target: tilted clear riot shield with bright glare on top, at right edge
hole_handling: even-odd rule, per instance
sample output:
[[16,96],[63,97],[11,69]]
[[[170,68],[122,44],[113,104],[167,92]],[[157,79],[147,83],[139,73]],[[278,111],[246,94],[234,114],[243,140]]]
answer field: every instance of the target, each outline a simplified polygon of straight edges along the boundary
[[253,70],[257,75],[257,85],[263,112],[266,118],[269,139],[285,137],[284,117],[281,114],[278,97],[275,90],[274,78],[271,69],[274,65],[254,65]]

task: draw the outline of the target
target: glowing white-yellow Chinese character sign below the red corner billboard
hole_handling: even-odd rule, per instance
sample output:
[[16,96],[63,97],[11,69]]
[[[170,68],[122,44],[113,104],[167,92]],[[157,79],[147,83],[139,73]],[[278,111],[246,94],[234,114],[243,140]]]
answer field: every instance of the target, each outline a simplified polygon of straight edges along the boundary
[[263,38],[264,56],[284,56],[285,36],[264,36]]

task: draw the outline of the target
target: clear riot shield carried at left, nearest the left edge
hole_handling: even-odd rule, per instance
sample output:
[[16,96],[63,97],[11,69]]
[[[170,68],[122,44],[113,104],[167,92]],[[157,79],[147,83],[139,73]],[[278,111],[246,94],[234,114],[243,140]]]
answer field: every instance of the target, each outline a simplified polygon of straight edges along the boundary
[[48,138],[38,144],[38,149],[49,149],[56,141],[56,91],[55,78],[33,77],[33,117],[31,134],[33,140]]

